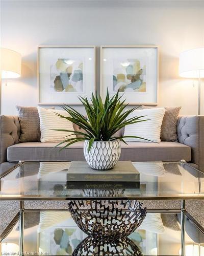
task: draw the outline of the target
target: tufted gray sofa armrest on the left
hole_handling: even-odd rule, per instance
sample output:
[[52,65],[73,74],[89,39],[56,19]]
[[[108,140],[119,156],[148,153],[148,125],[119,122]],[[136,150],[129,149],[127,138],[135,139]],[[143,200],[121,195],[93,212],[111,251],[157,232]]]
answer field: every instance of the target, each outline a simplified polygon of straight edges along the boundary
[[0,116],[0,163],[7,161],[7,147],[18,143],[20,123],[17,116]]

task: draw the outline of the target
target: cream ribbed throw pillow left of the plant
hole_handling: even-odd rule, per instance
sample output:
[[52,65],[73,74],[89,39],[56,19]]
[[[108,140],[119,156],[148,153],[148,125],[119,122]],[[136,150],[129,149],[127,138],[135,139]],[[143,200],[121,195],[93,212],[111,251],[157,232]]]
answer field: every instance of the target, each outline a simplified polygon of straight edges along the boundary
[[56,115],[56,113],[58,113],[68,117],[69,114],[66,111],[46,110],[38,106],[38,113],[40,117],[41,142],[61,142],[65,139],[75,138],[75,135],[66,138],[66,136],[72,134],[72,132],[53,131],[53,129],[74,131],[71,121]]

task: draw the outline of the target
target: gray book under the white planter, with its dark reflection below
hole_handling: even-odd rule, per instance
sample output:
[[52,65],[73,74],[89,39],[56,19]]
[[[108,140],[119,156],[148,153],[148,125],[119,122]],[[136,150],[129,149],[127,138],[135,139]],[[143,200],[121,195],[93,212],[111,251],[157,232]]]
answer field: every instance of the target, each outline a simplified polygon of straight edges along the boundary
[[140,174],[131,161],[119,161],[113,169],[93,170],[86,162],[71,162],[68,189],[139,188]]

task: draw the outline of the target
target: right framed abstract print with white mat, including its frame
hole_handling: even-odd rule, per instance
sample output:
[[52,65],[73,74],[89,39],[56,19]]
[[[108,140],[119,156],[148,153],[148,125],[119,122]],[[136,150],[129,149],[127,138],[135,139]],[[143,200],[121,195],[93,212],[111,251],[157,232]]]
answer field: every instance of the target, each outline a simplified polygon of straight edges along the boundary
[[117,91],[130,105],[158,104],[157,46],[101,46],[100,95]]

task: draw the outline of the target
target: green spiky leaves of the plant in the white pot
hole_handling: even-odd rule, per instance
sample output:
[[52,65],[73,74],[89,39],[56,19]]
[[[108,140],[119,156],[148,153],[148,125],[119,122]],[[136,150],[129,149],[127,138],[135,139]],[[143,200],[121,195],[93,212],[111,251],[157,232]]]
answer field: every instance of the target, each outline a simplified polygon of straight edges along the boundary
[[[79,97],[80,101],[84,105],[86,110],[87,117],[80,114],[77,110],[74,110],[69,105],[61,105],[61,108],[64,109],[70,117],[60,115],[58,116],[65,118],[72,123],[79,125],[84,132],[71,131],[71,130],[55,130],[61,132],[71,132],[71,135],[80,135],[81,137],[67,138],[64,141],[56,145],[59,146],[63,143],[66,143],[61,150],[75,142],[89,140],[88,151],[90,151],[91,146],[94,141],[110,141],[110,140],[120,140],[127,144],[123,139],[124,138],[139,138],[137,136],[114,136],[120,129],[125,125],[144,122],[148,119],[141,119],[145,116],[136,116],[133,118],[127,118],[135,109],[128,109],[124,111],[128,104],[124,104],[124,101],[121,101],[122,96],[119,96],[119,92],[115,94],[112,98],[109,97],[109,92],[107,91],[106,100],[103,104],[103,101],[100,96],[94,96],[92,94],[91,104],[89,103],[87,97]],[[147,139],[145,139],[147,140]]]

